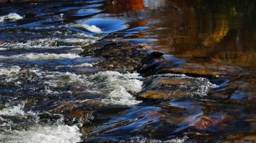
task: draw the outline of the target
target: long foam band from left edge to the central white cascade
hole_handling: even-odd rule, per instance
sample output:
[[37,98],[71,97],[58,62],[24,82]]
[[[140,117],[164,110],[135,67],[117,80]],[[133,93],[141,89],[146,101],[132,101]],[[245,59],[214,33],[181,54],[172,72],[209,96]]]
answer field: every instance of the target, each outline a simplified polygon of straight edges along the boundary
[[[92,66],[84,63],[76,66]],[[29,73],[29,74],[24,74]],[[15,83],[15,85],[23,84],[24,78],[29,81],[39,81],[44,85],[47,94],[55,93],[55,88],[72,86],[75,93],[92,93],[104,95],[105,99],[100,99],[100,103],[109,105],[135,105],[141,101],[137,101],[134,94],[142,90],[143,81],[138,73],[121,74],[115,71],[99,72],[94,75],[80,75],[70,72],[49,72],[39,69],[20,70],[18,66],[10,69],[3,69],[1,74],[5,74],[5,82]],[[32,76],[30,76],[32,75]]]

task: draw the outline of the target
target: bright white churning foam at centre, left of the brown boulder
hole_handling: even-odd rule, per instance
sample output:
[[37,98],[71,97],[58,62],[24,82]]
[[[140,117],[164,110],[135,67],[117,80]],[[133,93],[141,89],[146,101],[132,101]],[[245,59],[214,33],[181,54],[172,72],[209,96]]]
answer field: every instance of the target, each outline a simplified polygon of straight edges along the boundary
[[121,74],[115,71],[99,72],[92,75],[100,80],[99,85],[103,85],[104,91],[110,99],[103,101],[108,104],[135,105],[141,101],[135,100],[130,93],[138,93],[142,90],[143,81],[138,73]]

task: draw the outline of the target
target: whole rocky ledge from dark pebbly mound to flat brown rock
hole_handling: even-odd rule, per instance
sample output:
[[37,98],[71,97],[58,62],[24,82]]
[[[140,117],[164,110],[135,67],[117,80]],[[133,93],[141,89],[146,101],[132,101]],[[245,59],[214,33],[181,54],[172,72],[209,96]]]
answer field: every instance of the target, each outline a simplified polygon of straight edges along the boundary
[[240,77],[238,68],[224,64],[195,64],[175,58],[164,51],[153,50],[147,44],[132,45],[129,42],[101,40],[83,47],[81,56],[97,56],[105,61],[96,64],[105,70],[119,72],[137,71],[143,76],[176,73],[191,77],[230,78]]

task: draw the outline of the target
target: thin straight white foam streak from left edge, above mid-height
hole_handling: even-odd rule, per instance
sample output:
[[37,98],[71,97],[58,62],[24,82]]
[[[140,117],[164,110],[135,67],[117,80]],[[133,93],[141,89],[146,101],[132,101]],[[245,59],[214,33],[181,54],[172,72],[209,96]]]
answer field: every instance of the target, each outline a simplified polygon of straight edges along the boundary
[[29,53],[29,54],[18,54],[11,56],[0,55],[0,59],[28,59],[28,60],[54,60],[54,59],[75,59],[81,58],[76,53]]

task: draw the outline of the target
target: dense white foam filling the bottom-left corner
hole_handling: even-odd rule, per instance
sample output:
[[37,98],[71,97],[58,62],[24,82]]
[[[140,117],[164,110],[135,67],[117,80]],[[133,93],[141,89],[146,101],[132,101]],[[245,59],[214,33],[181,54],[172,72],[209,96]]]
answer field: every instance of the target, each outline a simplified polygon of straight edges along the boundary
[[20,143],[73,143],[81,141],[77,126],[33,126],[28,130],[14,130],[0,135],[0,141]]

